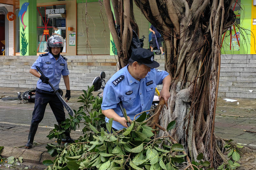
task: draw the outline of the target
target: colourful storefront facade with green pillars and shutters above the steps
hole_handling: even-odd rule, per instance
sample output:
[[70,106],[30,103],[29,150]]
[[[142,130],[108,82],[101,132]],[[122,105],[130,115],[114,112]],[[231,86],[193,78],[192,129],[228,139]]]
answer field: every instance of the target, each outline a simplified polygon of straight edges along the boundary
[[[45,53],[56,25],[64,38],[63,55],[116,55],[105,8],[98,0],[5,0],[0,4],[0,49],[5,55]],[[236,23],[223,34],[222,54],[256,54],[256,4],[236,0]],[[133,4],[139,38],[148,48],[150,23]],[[87,13],[86,13],[87,12]],[[244,29],[242,29],[244,28]],[[2,55],[2,53],[0,54]]]

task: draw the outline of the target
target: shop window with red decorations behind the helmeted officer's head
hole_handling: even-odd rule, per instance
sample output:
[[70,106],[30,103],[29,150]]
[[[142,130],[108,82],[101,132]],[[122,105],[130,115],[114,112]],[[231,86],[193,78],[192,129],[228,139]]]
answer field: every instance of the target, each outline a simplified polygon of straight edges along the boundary
[[64,39],[63,53],[66,53],[66,5],[50,5],[37,7],[37,52],[44,53],[46,41],[57,26]]

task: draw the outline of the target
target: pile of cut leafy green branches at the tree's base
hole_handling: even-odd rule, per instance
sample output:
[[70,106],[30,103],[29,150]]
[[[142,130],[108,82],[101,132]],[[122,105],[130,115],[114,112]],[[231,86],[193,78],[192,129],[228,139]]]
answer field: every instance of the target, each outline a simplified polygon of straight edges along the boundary
[[[101,113],[102,99],[92,96],[94,87],[88,87],[88,91],[79,97],[78,102],[83,106],[75,111],[75,116],[64,121],[60,126],[56,125],[48,137],[63,137],[65,129],[76,130],[76,126],[83,124],[83,134],[73,144],[47,144],[49,154],[56,156],[54,161],[45,160],[46,170],[57,169],[183,169],[182,164],[188,159],[184,147],[172,140],[170,136],[155,137],[152,129],[147,125],[150,118],[146,112],[131,122],[127,129],[113,131],[110,119],[105,124],[105,117]],[[89,109],[91,108],[91,109]],[[88,114],[85,114],[85,112]],[[82,122],[83,120],[83,122]],[[175,121],[170,122],[168,130],[175,127]],[[64,129],[64,130],[63,130]],[[107,133],[113,131],[113,133]],[[187,163],[186,163],[187,164]],[[203,156],[198,157],[191,166],[207,167],[210,162],[204,161]],[[185,165],[186,166],[186,165]]]

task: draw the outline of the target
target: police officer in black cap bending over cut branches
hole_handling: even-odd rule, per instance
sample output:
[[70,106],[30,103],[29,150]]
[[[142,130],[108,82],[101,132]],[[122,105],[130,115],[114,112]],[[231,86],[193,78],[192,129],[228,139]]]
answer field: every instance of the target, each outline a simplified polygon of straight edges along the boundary
[[167,103],[170,97],[171,77],[166,71],[155,69],[158,66],[159,63],[154,61],[153,52],[136,48],[132,51],[128,65],[108,80],[104,88],[101,109],[106,116],[106,122],[114,118],[112,123],[114,130],[128,127],[118,105],[120,101],[126,109],[130,122],[136,114],[150,109],[156,85],[163,84],[159,99],[163,97]]

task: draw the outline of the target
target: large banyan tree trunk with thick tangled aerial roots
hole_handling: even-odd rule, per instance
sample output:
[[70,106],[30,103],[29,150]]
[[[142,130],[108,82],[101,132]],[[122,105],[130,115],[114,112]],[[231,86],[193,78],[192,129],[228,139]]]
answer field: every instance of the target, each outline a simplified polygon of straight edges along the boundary
[[[163,130],[175,120],[176,127],[167,133],[184,145],[189,160],[203,153],[204,160],[217,167],[225,161],[224,142],[214,135],[220,43],[222,33],[235,22],[234,0],[134,2],[164,38],[165,70],[172,78],[168,108],[159,104],[163,110],[152,119],[151,126]],[[104,0],[104,6],[122,68],[131,56],[132,30],[139,36],[132,0]],[[116,25],[120,25],[120,34]],[[166,130],[158,137],[164,135]]]

